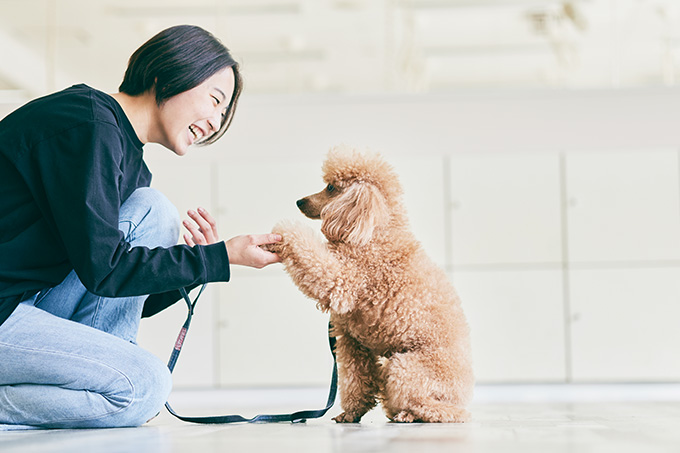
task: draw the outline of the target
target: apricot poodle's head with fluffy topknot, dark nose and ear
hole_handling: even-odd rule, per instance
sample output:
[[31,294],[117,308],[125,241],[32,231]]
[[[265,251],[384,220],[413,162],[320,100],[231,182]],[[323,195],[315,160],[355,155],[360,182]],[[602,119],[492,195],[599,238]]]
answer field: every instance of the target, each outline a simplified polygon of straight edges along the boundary
[[323,165],[327,184],[319,193],[297,201],[331,242],[366,245],[384,227],[398,203],[401,186],[394,170],[377,154],[336,147]]

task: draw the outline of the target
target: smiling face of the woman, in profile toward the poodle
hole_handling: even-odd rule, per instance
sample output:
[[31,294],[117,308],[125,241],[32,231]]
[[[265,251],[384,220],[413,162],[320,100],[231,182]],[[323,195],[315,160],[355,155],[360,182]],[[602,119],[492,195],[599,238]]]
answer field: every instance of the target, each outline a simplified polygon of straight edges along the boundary
[[153,140],[179,156],[201,138],[219,130],[234,92],[227,67],[200,85],[169,98],[158,108],[158,137]]

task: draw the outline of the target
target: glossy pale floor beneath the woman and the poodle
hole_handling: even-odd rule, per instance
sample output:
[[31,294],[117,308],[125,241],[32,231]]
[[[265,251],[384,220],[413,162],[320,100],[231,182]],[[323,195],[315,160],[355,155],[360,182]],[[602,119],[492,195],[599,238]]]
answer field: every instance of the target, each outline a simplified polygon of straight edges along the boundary
[[[388,423],[380,410],[367,414],[360,424],[337,425],[330,420],[339,411],[333,408],[324,418],[305,424],[210,426],[184,423],[163,411],[141,428],[0,432],[0,451],[675,452],[680,448],[679,390],[480,388],[471,408],[473,421],[462,425]],[[238,407],[250,416],[259,409],[315,407],[323,400],[323,390],[173,394],[173,406],[187,415],[214,415]]]

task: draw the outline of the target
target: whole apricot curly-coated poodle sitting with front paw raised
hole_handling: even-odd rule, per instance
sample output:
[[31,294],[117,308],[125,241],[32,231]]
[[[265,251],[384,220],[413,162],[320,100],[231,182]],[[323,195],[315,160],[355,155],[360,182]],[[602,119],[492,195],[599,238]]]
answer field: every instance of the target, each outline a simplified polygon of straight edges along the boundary
[[330,311],[338,337],[336,422],[358,422],[378,401],[396,422],[464,422],[472,397],[469,328],[445,273],[410,232],[402,189],[377,154],[331,149],[327,187],[299,200],[327,242],[280,223],[280,254],[299,289]]

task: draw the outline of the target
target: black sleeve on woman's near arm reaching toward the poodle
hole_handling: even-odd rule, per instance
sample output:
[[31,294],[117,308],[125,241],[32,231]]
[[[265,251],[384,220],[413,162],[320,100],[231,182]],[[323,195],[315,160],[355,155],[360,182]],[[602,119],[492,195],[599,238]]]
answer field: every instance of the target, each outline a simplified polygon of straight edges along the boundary
[[85,287],[126,297],[228,281],[224,242],[154,249],[125,242],[118,230],[123,152],[114,125],[87,123],[41,142],[32,155],[46,198],[40,208]]

